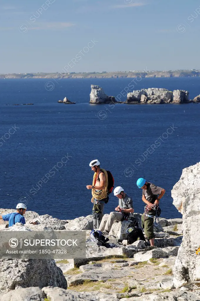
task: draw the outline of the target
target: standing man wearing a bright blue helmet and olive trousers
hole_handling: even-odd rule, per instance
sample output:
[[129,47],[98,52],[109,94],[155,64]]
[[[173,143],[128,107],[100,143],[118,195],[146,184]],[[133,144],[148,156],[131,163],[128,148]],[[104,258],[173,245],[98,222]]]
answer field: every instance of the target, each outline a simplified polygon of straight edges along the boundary
[[154,216],[155,208],[159,206],[159,201],[163,197],[165,190],[155,186],[152,183],[146,182],[144,178],[137,180],[137,186],[142,189],[142,200],[146,204],[145,212],[142,214],[142,228],[145,230],[147,239],[151,246],[154,246]]

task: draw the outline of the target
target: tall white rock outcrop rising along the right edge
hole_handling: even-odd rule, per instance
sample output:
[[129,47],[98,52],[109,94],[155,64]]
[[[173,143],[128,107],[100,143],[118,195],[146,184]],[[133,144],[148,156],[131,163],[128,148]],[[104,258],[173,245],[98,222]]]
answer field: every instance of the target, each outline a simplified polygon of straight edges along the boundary
[[171,194],[173,205],[183,214],[183,242],[173,269],[178,288],[200,281],[200,163],[183,169]]

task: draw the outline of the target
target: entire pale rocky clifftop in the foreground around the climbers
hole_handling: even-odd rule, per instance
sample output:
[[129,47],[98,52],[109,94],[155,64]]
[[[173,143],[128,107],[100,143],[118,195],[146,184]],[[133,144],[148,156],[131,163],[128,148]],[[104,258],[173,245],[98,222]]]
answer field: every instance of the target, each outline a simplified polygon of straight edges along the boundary
[[[110,248],[90,240],[92,215],[60,220],[27,211],[25,225],[5,228],[0,221],[0,233],[86,233],[86,258],[1,259],[0,301],[199,301],[200,163],[183,169],[172,197],[183,219],[160,218],[154,226],[155,247],[143,240],[127,245],[128,221],[112,225],[108,238],[116,246]],[[0,214],[10,212],[15,209],[0,209]],[[134,213],[139,227],[141,215]],[[35,219],[38,225],[29,223]]]

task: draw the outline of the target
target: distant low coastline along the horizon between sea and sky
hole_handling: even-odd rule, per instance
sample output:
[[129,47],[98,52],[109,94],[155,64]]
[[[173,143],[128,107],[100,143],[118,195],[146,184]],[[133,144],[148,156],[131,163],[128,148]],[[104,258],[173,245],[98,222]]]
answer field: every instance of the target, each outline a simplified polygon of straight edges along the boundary
[[8,73],[0,74],[0,79],[83,79],[83,78],[162,78],[162,77],[199,77],[200,70],[175,71],[117,71],[117,72],[81,72],[81,73]]

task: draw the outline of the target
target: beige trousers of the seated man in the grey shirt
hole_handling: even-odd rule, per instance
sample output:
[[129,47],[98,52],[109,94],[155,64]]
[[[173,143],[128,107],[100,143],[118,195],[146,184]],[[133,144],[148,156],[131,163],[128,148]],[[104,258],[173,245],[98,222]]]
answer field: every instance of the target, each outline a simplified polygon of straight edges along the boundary
[[108,235],[111,227],[115,221],[122,221],[123,214],[121,212],[111,212],[109,215],[104,215],[98,230],[102,231],[104,235]]

